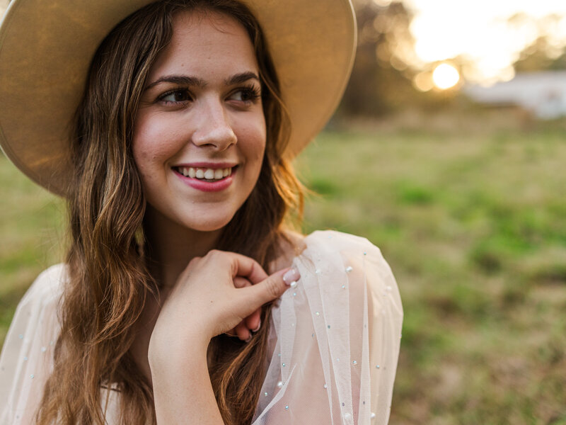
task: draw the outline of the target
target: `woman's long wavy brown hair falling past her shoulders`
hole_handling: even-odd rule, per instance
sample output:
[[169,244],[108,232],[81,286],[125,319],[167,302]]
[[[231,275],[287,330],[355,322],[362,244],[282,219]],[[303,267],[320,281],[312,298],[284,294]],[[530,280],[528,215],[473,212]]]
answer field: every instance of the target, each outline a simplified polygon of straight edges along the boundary
[[[267,145],[260,177],[217,248],[248,255],[267,269],[285,239],[287,213],[302,210],[301,185],[282,159],[289,124],[277,74],[248,8],[234,0],[163,0],[122,21],[98,48],[76,112],[68,280],[38,424],[105,424],[104,387],[120,392],[120,423],[155,422],[151,386],[129,352],[146,299],[158,292],[144,260],[146,201],[131,142],[147,74],[170,42],[173,16],[181,10],[216,11],[241,23],[262,81]],[[267,305],[264,325],[249,344],[226,336],[211,341],[209,372],[226,424],[249,424],[253,418],[267,364],[269,322]]]

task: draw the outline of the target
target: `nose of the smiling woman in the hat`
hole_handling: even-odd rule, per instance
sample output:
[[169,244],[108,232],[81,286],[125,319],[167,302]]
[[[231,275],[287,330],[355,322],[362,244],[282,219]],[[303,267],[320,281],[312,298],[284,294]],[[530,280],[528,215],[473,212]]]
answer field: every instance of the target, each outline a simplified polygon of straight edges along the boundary
[[214,150],[223,151],[236,144],[236,134],[221,101],[203,101],[197,114],[198,125],[192,133],[192,142],[195,145],[210,146],[214,147]]

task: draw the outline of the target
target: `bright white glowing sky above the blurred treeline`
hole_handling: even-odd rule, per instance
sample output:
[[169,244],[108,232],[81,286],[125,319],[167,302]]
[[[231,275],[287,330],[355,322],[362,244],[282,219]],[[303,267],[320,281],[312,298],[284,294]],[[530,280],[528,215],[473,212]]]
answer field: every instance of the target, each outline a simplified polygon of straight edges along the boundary
[[[374,0],[378,4],[388,0]],[[566,0],[404,0],[423,64],[461,56],[472,65],[467,79],[490,84],[514,77],[512,63],[539,34],[558,55],[566,45]],[[513,24],[508,19],[517,13]],[[555,21],[545,20],[555,14]]]

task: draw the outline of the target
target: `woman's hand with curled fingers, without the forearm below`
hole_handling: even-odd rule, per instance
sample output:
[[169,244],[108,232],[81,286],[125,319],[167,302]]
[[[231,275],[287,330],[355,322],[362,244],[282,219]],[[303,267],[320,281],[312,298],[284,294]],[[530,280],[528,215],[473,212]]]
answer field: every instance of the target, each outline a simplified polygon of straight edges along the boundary
[[260,307],[281,296],[299,279],[294,269],[267,276],[259,263],[240,254],[210,251],[190,261],[159,313],[149,343],[151,363],[171,361],[195,345],[234,329],[246,339],[259,324]]

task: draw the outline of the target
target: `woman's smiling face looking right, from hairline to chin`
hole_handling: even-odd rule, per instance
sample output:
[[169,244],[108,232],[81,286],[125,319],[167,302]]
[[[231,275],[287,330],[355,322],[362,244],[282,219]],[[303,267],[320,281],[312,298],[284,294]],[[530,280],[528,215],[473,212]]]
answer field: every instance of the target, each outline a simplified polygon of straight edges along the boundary
[[149,72],[133,154],[147,202],[184,227],[228,224],[258,180],[265,118],[246,30],[229,16],[180,12]]

